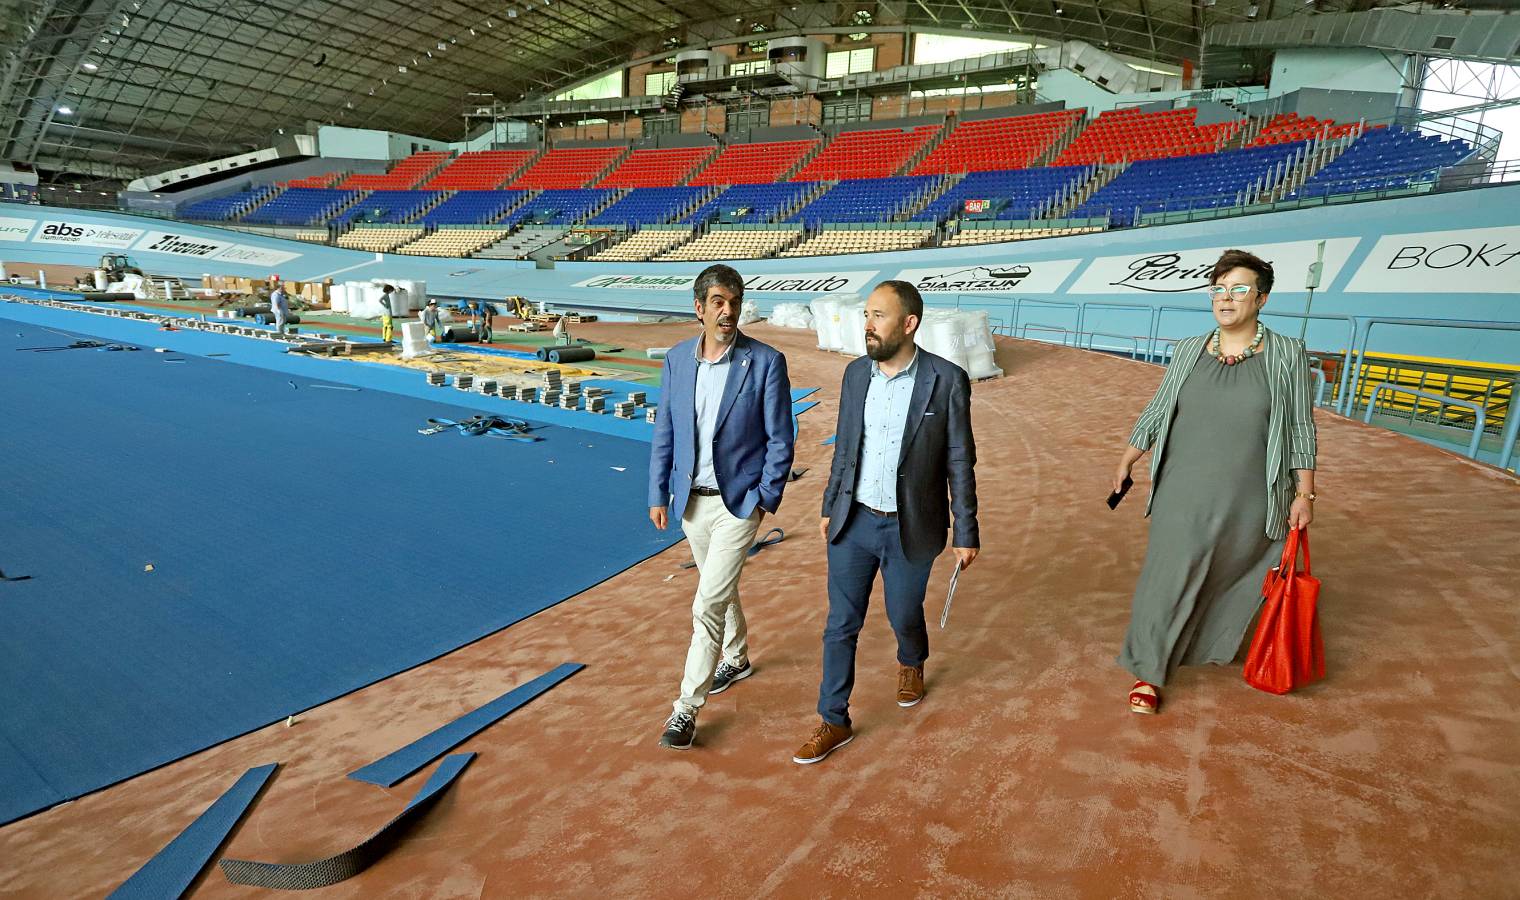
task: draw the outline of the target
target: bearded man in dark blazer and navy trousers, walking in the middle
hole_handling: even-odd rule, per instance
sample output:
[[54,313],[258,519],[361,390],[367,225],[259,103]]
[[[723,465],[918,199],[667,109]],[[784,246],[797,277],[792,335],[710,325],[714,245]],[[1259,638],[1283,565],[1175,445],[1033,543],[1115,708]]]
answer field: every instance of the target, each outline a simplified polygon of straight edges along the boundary
[[828,625],[822,722],[792,756],[816,763],[850,743],[856,639],[876,573],[897,634],[897,705],[924,698],[924,588],[955,514],[953,552],[976,559],[976,441],[965,369],[914,344],[924,299],[907,281],[883,281],[865,304],[866,356],[845,366],[834,462],[819,531],[828,541]]

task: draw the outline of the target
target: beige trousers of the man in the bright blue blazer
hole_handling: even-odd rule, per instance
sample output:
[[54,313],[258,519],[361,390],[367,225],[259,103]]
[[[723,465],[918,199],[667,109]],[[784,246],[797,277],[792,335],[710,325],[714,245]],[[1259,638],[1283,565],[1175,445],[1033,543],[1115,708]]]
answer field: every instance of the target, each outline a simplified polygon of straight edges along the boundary
[[722,497],[692,494],[681,517],[681,529],[696,559],[696,599],[692,602],[692,648],[686,652],[686,673],[681,677],[681,699],[676,711],[696,715],[707,702],[713,686],[713,670],[719,658],[740,664],[748,658],[749,643],[745,611],[739,605],[739,573],[749,558],[762,511],[749,518],[736,518],[724,506]]

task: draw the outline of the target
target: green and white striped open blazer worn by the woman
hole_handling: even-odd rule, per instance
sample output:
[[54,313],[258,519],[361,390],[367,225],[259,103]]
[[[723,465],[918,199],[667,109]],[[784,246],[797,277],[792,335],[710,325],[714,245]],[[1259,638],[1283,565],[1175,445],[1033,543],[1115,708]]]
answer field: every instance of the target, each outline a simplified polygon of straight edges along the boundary
[[[1170,365],[1161,377],[1161,386],[1155,397],[1146,404],[1135,423],[1135,430],[1129,435],[1129,444],[1137,450],[1154,450],[1151,453],[1151,500],[1146,502],[1145,514],[1151,515],[1151,503],[1155,500],[1155,482],[1161,473],[1161,458],[1166,453],[1166,436],[1172,429],[1172,415],[1176,412],[1176,395],[1183,391],[1183,383],[1198,363],[1204,345],[1213,338],[1213,331],[1199,338],[1184,338],[1176,344]],[[1274,541],[1287,537],[1287,511],[1294,505],[1294,494],[1298,491],[1294,480],[1295,468],[1315,467],[1315,418],[1313,392],[1310,391],[1309,354],[1304,342],[1297,338],[1286,338],[1266,328],[1263,339],[1266,353],[1263,360],[1268,366],[1268,388],[1272,403],[1266,424],[1266,537]]]

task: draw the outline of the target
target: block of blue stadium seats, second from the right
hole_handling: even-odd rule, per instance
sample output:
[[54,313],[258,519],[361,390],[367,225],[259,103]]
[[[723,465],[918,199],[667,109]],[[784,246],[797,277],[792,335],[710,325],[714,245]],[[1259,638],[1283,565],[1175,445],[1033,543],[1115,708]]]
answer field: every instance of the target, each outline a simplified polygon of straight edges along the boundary
[[1105,216],[1134,225],[1135,214],[1233,207],[1257,185],[1271,189],[1292,172],[1307,144],[1268,144],[1202,157],[1142,160],[1099,189],[1072,216]]

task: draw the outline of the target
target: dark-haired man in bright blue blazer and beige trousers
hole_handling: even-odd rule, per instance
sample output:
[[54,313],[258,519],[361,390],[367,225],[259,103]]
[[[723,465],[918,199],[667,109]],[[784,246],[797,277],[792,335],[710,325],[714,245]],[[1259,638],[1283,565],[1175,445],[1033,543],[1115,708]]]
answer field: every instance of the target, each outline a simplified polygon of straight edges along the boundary
[[[792,382],[786,357],[739,331],[745,283],[730,266],[696,277],[702,333],[666,353],[649,448],[649,520],[673,515],[696,559],[692,648],[661,746],[687,749],[707,695],[748,678],[739,573],[792,474]],[[667,509],[669,508],[669,509]]]

